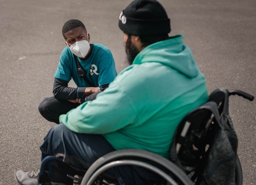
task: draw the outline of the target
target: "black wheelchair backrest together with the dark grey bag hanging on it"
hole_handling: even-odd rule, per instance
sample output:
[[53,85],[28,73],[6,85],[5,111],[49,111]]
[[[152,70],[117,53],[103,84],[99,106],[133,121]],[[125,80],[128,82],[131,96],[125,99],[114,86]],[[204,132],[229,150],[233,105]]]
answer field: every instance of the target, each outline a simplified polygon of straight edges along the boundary
[[227,89],[213,91],[209,101],[187,114],[177,127],[170,160],[187,174],[196,173],[196,178],[205,181],[215,178],[213,181],[218,183],[214,174],[223,174],[229,168],[230,178],[226,179],[233,182],[237,136],[229,117],[228,101]]

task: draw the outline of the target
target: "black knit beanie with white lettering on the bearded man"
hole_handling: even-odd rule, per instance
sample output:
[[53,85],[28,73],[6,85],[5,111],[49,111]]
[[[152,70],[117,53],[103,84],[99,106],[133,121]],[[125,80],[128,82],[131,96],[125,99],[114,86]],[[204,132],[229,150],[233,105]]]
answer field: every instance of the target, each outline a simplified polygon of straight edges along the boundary
[[119,28],[129,35],[158,35],[171,31],[170,19],[156,0],[135,0],[119,16]]

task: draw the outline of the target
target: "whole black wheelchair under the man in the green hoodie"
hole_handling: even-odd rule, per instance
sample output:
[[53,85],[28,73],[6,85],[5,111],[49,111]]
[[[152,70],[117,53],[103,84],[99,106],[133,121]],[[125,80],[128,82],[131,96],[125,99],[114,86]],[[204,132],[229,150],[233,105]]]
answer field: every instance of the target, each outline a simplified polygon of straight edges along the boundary
[[238,139],[229,117],[230,95],[254,99],[253,95],[239,90],[229,92],[219,88],[213,91],[208,102],[188,113],[178,125],[170,147],[170,160],[148,151],[125,149],[100,157],[82,172],[62,162],[61,158],[47,156],[40,167],[38,184],[47,185],[51,181],[49,166],[57,164],[62,177],[81,185],[117,185],[117,177],[107,171],[121,165],[145,168],[160,177],[157,182],[141,177],[146,184],[241,185],[243,174],[237,156]]

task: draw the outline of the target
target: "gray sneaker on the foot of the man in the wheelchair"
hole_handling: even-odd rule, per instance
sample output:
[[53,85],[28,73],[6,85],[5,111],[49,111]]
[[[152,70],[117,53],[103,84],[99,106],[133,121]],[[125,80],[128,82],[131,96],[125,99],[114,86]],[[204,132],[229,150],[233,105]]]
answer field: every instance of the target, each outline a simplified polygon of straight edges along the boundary
[[24,172],[17,170],[15,171],[14,177],[19,185],[37,185],[39,172],[40,171]]

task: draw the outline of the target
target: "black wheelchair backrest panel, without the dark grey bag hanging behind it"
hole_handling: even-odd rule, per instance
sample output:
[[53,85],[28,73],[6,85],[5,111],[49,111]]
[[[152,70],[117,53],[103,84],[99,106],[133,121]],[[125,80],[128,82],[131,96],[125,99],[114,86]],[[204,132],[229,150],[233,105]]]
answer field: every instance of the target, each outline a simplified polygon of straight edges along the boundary
[[187,114],[175,131],[170,151],[171,161],[188,172],[198,166],[212,143],[219,118],[218,106],[213,101]]

